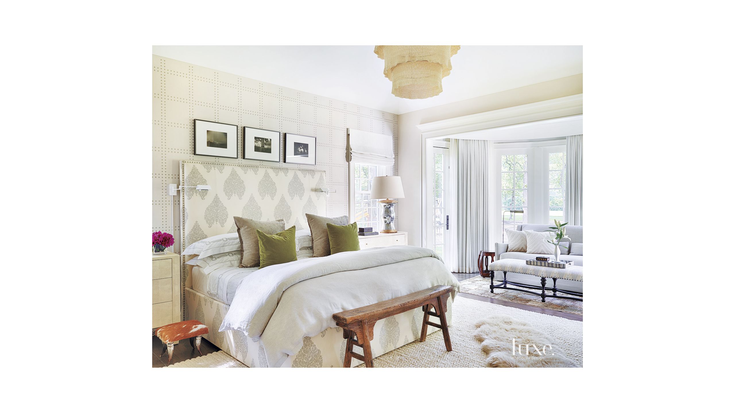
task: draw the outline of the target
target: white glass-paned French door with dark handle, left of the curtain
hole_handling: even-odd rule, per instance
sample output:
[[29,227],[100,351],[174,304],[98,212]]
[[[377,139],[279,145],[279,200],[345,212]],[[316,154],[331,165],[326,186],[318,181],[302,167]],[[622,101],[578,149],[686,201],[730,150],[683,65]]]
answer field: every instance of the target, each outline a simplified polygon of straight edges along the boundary
[[427,206],[428,247],[433,249],[438,256],[446,262],[445,244],[448,240],[449,223],[445,200],[447,196],[447,182],[449,178],[449,149],[431,148],[429,165],[427,168],[429,179],[426,180],[429,203]]

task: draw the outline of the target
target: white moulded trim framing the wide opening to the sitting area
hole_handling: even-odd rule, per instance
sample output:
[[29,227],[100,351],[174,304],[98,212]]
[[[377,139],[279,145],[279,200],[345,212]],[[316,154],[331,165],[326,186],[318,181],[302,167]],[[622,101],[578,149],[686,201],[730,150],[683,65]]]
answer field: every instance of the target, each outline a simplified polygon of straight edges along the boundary
[[[429,123],[421,123],[416,127],[421,132],[421,245],[426,248],[428,234],[426,233],[426,164],[427,152],[431,141],[443,137],[465,137],[468,132],[475,139],[483,137],[487,129],[502,128],[504,126],[519,125],[521,123],[545,121],[548,119],[566,118],[582,114],[582,94],[564,96],[531,104],[524,104],[490,112],[459,116],[458,118],[444,119]],[[565,132],[564,132],[565,133]],[[566,136],[564,134],[556,136]]]

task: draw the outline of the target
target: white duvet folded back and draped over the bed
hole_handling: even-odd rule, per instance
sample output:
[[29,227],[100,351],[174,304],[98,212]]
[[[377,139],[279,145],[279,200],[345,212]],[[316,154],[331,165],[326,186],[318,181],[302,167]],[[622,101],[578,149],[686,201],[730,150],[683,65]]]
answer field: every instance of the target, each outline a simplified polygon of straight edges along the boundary
[[279,367],[304,337],[336,327],[335,312],[459,283],[427,248],[370,248],[271,265],[245,277],[220,331],[262,340],[268,365]]

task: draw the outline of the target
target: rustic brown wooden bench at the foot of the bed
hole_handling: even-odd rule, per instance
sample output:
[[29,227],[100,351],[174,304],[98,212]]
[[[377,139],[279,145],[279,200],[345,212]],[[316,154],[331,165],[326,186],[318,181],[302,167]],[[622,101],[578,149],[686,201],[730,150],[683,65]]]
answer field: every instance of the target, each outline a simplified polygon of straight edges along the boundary
[[[421,327],[420,342],[426,340],[426,328],[434,326],[442,330],[444,334],[444,345],[447,351],[452,351],[452,343],[449,340],[449,331],[447,329],[447,300],[452,292],[452,287],[448,285],[435,285],[413,292],[409,295],[393,298],[388,301],[381,301],[377,304],[362,306],[348,311],[337,312],[332,315],[337,326],[343,328],[343,337],[347,339],[345,348],[344,367],[351,367],[352,358],[365,362],[365,367],[373,367],[373,352],[370,350],[370,340],[373,340],[373,327],[378,320],[382,320],[393,315],[407,312],[411,309],[423,307],[423,325]],[[429,306],[434,307],[434,311],[429,311]],[[431,323],[429,316],[439,317],[440,323]],[[365,356],[352,351],[352,346],[362,348]]]

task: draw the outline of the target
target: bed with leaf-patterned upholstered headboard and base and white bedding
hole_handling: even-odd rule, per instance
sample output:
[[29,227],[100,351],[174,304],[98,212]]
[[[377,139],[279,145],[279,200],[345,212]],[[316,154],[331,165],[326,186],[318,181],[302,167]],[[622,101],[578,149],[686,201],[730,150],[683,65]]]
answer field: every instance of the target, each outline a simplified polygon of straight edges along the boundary
[[[287,228],[303,230],[309,228],[304,214],[328,215],[326,198],[315,190],[327,186],[323,170],[194,161],[180,166],[182,185],[212,187],[182,190],[182,250],[235,232],[233,216],[281,218]],[[184,318],[206,324],[204,337],[248,367],[342,367],[346,342],[332,313],[434,284],[459,291],[432,251],[410,246],[300,256],[260,270],[232,265],[206,273],[185,264],[192,258],[182,256]],[[417,340],[422,318],[421,309],[413,309],[376,323],[373,356]],[[360,363],[354,359],[352,364]]]

